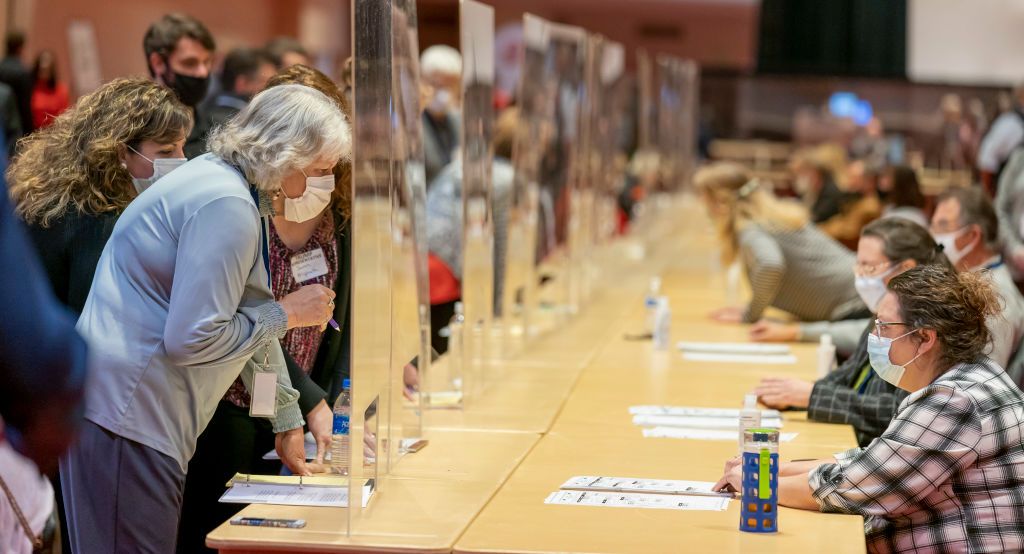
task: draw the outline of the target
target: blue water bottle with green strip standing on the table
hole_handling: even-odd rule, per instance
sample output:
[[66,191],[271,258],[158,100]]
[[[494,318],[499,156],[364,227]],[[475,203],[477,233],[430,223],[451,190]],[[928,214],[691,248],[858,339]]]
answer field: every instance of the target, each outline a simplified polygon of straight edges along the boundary
[[739,530],[778,530],[778,429],[743,432],[743,478]]

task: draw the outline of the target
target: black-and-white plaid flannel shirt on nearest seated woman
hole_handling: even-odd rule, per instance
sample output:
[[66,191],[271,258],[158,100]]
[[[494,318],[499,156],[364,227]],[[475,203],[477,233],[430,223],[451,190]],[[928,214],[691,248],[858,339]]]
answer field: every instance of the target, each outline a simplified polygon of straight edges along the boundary
[[1024,551],[1024,393],[961,364],[900,403],[865,449],[809,474],[824,512],[860,514],[871,552]]

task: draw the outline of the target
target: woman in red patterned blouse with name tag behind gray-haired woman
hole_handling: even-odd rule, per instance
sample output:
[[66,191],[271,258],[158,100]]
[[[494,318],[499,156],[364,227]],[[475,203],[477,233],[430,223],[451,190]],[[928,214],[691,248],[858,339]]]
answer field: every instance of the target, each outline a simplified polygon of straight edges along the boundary
[[[341,90],[323,73],[306,66],[292,66],[270,79],[268,87],[304,85],[327,95],[351,121],[351,108]],[[342,160],[330,179],[321,178],[316,205],[303,213],[278,211],[270,220],[270,276],[273,295],[283,299],[303,284],[316,283],[335,292],[334,319],[342,329],[293,329],[282,339],[289,364],[298,366],[300,376],[292,382],[300,391],[299,407],[310,429],[317,422],[326,429],[314,433],[317,438],[330,438],[333,412],[331,407],[341,391],[341,383],[349,377],[348,346],[350,344],[349,296],[351,289],[351,162]],[[304,221],[298,219],[308,218]],[[312,255],[324,261],[323,271],[295,274],[294,256]],[[302,378],[311,384],[300,386]],[[311,392],[310,389],[311,388]],[[269,473],[280,470],[278,462],[263,460],[273,450],[274,434],[269,422],[249,417],[250,397],[245,384],[236,379],[217,404],[213,419],[196,445],[188,463],[181,525],[178,527],[177,551],[194,554],[207,551],[206,536],[233,516],[241,506],[219,503],[223,483],[236,473]],[[321,443],[317,462],[323,462],[330,442]]]

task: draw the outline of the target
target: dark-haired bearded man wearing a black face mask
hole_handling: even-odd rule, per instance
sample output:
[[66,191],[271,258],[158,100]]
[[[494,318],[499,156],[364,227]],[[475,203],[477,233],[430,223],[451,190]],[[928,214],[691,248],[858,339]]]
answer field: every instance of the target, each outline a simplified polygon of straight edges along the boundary
[[[150,76],[170,88],[181,103],[193,110],[210,87],[213,35],[199,19],[184,13],[169,13],[150,26],[142,39]],[[185,140],[185,157],[191,160],[206,152],[205,131],[196,125]]]

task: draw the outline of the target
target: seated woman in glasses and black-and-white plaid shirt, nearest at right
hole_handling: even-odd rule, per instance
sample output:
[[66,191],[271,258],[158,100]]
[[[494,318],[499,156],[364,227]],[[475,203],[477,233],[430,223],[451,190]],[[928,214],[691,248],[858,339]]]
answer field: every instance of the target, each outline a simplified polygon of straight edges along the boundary
[[[871,552],[1024,550],[1024,393],[983,353],[998,302],[976,272],[893,278],[868,351],[910,395],[867,448],[780,465],[779,504],[864,516]],[[727,463],[718,487],[740,471]]]

